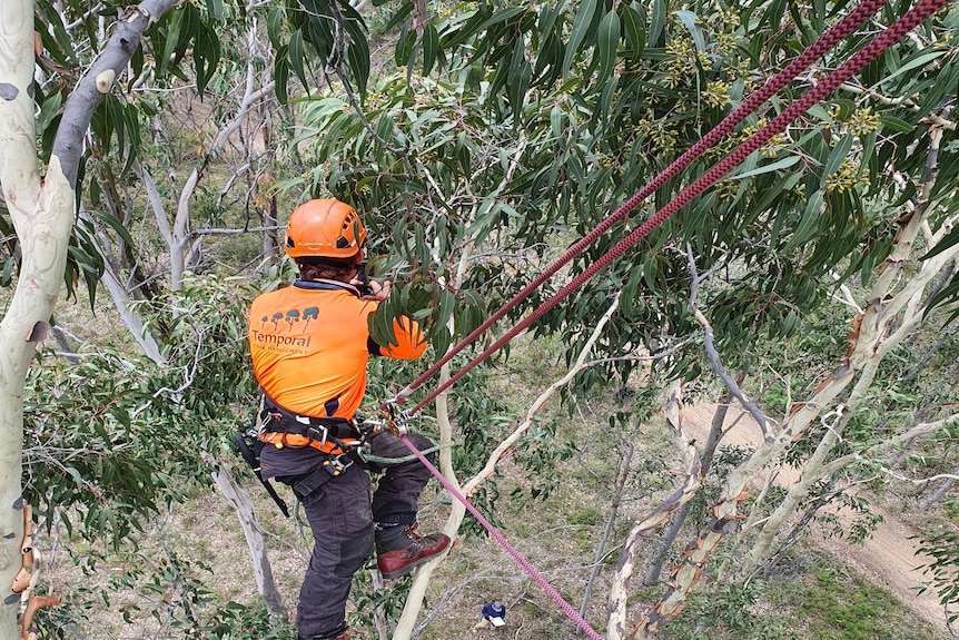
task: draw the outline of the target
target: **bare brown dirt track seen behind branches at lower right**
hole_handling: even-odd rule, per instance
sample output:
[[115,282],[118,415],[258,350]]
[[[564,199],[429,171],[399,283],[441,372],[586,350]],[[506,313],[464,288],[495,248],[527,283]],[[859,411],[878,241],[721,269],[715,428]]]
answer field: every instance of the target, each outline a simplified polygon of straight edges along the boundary
[[[691,436],[705,442],[714,412],[715,405],[710,403],[686,406],[683,408],[683,426]],[[759,426],[741,407],[730,408],[725,424],[732,429],[723,443],[755,446],[760,442]],[[789,480],[782,479],[782,482]],[[823,551],[840,558],[872,582],[884,585],[918,616],[941,629],[943,637],[949,637],[939,598],[932,591],[922,594],[916,592],[916,588],[928,580],[917,568],[929,561],[928,557],[917,552],[918,541],[911,539],[917,532],[907,526],[897,514],[883,510],[874,502],[870,509],[882,515],[882,522],[864,544],[849,544],[844,540],[823,538],[820,542]],[[840,518],[842,516],[840,512]]]

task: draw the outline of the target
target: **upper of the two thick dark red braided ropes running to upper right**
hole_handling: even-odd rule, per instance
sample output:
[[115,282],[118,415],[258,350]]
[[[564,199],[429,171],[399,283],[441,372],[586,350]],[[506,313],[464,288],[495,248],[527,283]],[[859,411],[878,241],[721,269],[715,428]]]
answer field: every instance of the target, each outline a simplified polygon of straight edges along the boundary
[[[742,122],[750,114],[759,109],[767,100],[774,96],[780,89],[785,87],[797,76],[808,69],[815,60],[822,57],[823,53],[836,47],[847,36],[853,32],[859,24],[867,18],[876,13],[889,0],[866,0],[857,6],[850,13],[842,18],[834,27],[823,33],[815,42],[807,48],[802,53],[794,58],[782,71],[770,78],[769,81],[755,93],[747,98],[739,107],[730,111],[723,120],[710,130],[705,136],[686,151],[673,160],[659,176],[653,178],[651,183],[640,189],[633,197],[620,206],[611,216],[600,223],[592,232],[583,236],[575,245],[570,247],[566,253],[560,256],[555,263],[550,265],[544,272],[537,275],[531,283],[523,287],[513,298],[505,305],[500,307],[491,315],[483,324],[476,327],[469,335],[451,347],[438,361],[436,361],[428,370],[414,380],[406,388],[397,394],[397,400],[407,397],[414,390],[419,388],[423,383],[436,375],[444,364],[449,362],[457,353],[463,351],[467,345],[475,342],[483,335],[493,324],[498,322],[510,309],[526,299],[531,293],[536,291],[543,283],[565,266],[570,260],[580,255],[590,245],[606,230],[609,230],[617,220],[624,218],[640,203],[646,199],[651,194],[660,189],[666,181],[676,177],[680,171],[685,169],[693,160],[699,158],[706,149],[719,142],[722,138],[729,135],[740,122]],[[426,402],[419,403],[413,413],[422,408]]]

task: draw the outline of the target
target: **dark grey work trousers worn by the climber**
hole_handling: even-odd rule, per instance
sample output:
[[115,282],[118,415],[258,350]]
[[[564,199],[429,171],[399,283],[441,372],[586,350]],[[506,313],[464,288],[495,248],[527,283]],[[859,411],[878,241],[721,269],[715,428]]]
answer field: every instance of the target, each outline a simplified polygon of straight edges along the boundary
[[[407,437],[419,451],[433,446],[418,433]],[[377,457],[411,455],[406,445],[389,432],[373,436],[369,450]],[[428,457],[432,462],[432,454]],[[264,471],[270,476],[308,473],[320,460],[313,447],[276,449],[268,444],[261,454]],[[300,638],[324,638],[343,627],[353,574],[373,551],[373,523],[416,522],[416,503],[428,481],[429,470],[416,459],[384,465],[370,500],[369,475],[354,464],[303,501],[314,548],[296,609]]]

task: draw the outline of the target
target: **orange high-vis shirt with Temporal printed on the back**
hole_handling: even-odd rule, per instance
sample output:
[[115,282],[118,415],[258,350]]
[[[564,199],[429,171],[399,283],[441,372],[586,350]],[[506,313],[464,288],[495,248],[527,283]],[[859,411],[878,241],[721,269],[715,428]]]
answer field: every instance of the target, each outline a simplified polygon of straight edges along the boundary
[[415,360],[426,351],[426,342],[419,326],[403,318],[402,325],[394,323],[398,345],[376,344],[367,317],[377,304],[357,297],[349,285],[318,283],[297,280],[254,301],[254,374],[267,395],[291,412],[352,419],[363,402],[369,355]]

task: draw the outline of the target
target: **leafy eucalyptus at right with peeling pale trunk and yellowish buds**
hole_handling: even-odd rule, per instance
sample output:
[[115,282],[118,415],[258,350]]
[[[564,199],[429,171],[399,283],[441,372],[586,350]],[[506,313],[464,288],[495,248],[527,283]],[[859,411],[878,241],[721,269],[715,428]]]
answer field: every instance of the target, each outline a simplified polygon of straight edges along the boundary
[[[304,139],[314,140],[320,163],[312,179],[317,188],[349,194],[380,228],[393,230],[396,255],[384,268],[403,272],[408,283],[392,301],[393,311],[416,313],[432,301],[438,312],[432,337],[445,346],[532,279],[531,257],[548,262],[548,249],[599,225],[851,8],[560,2],[444,12],[421,36],[412,23],[403,28],[394,57],[399,72],[370,82],[363,115],[336,93],[306,102],[312,128]],[[621,234],[907,8],[883,8],[785,96],[590,247],[573,262],[572,274],[600,259]],[[404,10],[399,18],[412,13],[412,4]],[[630,613],[625,585],[640,542],[693,495],[699,467],[690,470],[689,490],[678,491],[676,502],[635,523],[612,594],[611,638],[652,636],[682,609],[711,553],[735,530],[751,474],[782,464],[785,455],[807,474],[783,502],[753,505],[772,515],[743,567],[751,571],[762,562],[812,484],[860,460],[841,433],[857,412],[868,412],[861,402],[883,357],[907,337],[935,332],[933,309],[955,305],[956,166],[940,161],[940,150],[955,147],[956,95],[941,82],[957,72],[953,31],[949,11],[914,30],[534,325],[534,332],[569,336],[572,358],[589,335],[582,327],[601,313],[597,301],[616,295],[620,308],[600,343],[606,364],[580,374],[580,393],[611,380],[627,382],[641,358],[624,356],[641,348],[670,354],[654,368],[666,380],[702,381],[713,370],[732,384],[725,366],[748,365],[763,339],[800,334],[841,287],[873,292],[851,305],[861,313],[844,329],[848,353],[824,360],[832,372],[795,390],[804,402],[792,404],[781,424],[770,424],[754,407],[767,444],[725,481],[708,529],[688,547],[696,551],[685,554],[662,600]],[[414,67],[429,78],[412,77]],[[454,278],[464,259],[465,277]],[[534,296],[513,318],[542,299]],[[887,336],[889,327],[897,328]],[[705,354],[688,341],[703,334]],[[814,420],[830,420],[829,403],[840,407],[839,422],[825,437],[810,433]],[[952,420],[946,412],[912,429],[897,425],[901,433],[872,441],[870,455]],[[627,624],[631,616],[639,622]]]

